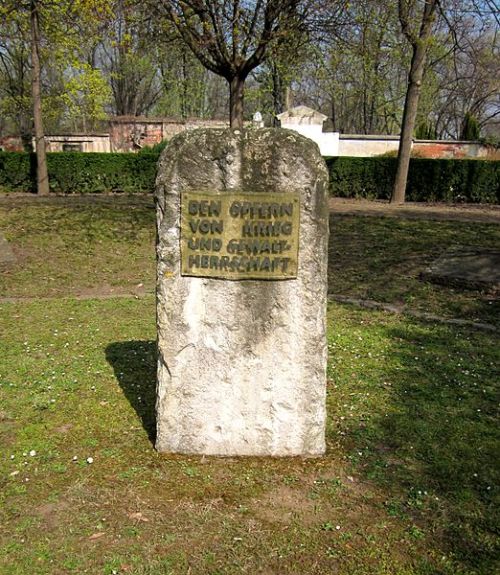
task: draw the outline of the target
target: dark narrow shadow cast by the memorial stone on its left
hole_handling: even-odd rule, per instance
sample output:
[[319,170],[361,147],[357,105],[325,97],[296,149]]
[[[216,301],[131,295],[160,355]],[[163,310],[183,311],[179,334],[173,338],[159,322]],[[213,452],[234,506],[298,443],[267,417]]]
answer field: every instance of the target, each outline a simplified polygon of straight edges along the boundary
[[139,416],[151,443],[156,439],[156,342],[119,341],[106,348],[125,397]]

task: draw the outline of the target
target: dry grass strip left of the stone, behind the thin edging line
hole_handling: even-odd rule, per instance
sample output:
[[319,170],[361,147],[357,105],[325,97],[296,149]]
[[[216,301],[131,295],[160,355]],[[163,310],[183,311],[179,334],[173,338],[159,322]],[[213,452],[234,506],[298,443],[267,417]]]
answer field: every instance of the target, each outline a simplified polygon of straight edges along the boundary
[[0,276],[0,296],[154,289],[155,212],[140,204],[69,201],[0,207],[0,230],[18,264]]

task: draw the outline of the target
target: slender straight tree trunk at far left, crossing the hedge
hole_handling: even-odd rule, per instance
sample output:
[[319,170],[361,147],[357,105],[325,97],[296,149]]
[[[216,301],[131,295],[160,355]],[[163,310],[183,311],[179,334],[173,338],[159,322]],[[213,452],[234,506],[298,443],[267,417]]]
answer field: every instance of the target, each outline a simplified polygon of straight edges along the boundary
[[36,189],[39,196],[49,195],[49,176],[42,121],[42,99],[40,90],[40,23],[38,1],[30,2],[31,21],[31,66],[33,92],[33,119],[35,123]]

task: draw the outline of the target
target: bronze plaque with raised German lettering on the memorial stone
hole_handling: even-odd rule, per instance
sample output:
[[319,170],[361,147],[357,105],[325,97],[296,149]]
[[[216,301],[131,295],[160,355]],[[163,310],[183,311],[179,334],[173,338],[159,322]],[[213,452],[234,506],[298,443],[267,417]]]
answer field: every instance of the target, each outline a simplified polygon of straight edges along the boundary
[[296,278],[299,223],[298,192],[183,192],[181,274]]

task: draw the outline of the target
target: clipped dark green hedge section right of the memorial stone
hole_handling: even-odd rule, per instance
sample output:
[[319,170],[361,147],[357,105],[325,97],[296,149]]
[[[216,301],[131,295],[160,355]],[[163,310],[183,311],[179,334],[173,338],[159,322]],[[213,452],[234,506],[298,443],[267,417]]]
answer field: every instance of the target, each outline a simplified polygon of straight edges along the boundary
[[[396,158],[328,158],[331,194],[389,199]],[[412,202],[500,204],[500,162],[487,160],[410,161],[406,199]]]

